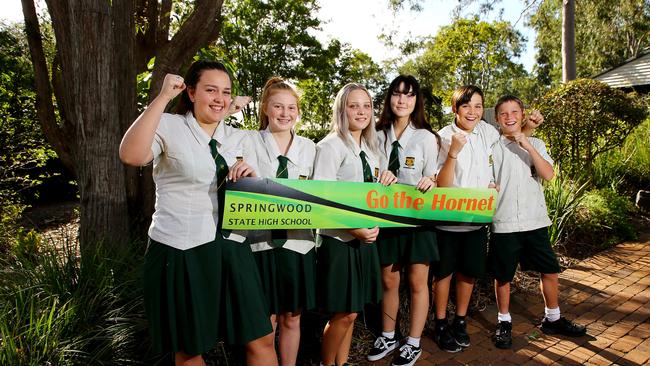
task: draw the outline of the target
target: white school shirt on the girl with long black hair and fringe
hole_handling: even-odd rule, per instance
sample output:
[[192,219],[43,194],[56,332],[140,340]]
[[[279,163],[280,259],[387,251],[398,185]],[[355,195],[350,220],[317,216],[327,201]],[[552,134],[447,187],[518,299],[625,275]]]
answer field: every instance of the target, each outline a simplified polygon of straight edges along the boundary
[[[385,163],[382,170],[388,170],[390,153],[393,149],[392,144],[396,140],[394,126],[390,126],[387,139],[382,131],[378,131],[377,135],[379,136],[379,148],[383,155],[382,160]],[[431,177],[436,174],[438,140],[433,133],[423,128],[417,129],[412,123],[409,123],[399,138],[399,144],[398,183],[415,186],[422,177]]]

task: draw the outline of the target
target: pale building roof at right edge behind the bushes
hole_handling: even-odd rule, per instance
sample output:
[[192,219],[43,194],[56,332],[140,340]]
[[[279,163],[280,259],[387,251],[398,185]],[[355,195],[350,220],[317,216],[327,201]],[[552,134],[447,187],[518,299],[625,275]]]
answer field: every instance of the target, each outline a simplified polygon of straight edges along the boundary
[[613,88],[650,85],[650,50],[593,77]]

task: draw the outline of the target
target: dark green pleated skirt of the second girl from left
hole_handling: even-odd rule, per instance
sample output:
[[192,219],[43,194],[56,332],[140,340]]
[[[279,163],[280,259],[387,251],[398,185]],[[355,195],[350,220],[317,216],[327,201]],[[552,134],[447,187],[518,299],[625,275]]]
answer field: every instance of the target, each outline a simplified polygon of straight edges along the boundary
[[316,307],[316,250],[300,254],[274,248],[254,252],[271,314]]

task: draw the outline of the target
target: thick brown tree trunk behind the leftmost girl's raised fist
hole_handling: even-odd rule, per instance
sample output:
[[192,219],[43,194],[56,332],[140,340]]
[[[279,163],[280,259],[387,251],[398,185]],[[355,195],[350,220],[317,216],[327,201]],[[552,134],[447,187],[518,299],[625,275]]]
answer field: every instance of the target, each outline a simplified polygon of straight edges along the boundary
[[[128,1],[114,1],[128,8]],[[120,119],[134,98],[123,85],[124,65],[133,59],[128,42],[117,44],[113,9],[105,0],[48,0],[61,59],[65,115],[75,126],[75,166],[81,198],[82,253],[99,242],[128,238],[124,169],[118,158]],[[128,23],[128,20],[126,21]],[[122,29],[124,31],[124,29]],[[129,29],[126,30],[129,32]],[[116,52],[119,50],[119,52]],[[129,83],[133,84],[133,82]],[[122,95],[122,97],[120,97]],[[124,112],[124,108],[127,112]]]

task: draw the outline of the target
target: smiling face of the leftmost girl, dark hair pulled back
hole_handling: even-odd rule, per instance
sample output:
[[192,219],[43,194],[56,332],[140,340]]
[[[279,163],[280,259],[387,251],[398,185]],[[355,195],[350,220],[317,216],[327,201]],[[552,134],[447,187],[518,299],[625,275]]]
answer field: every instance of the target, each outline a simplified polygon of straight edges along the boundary
[[204,125],[219,123],[232,102],[230,77],[221,70],[203,70],[196,86],[187,92],[194,103],[194,118]]

